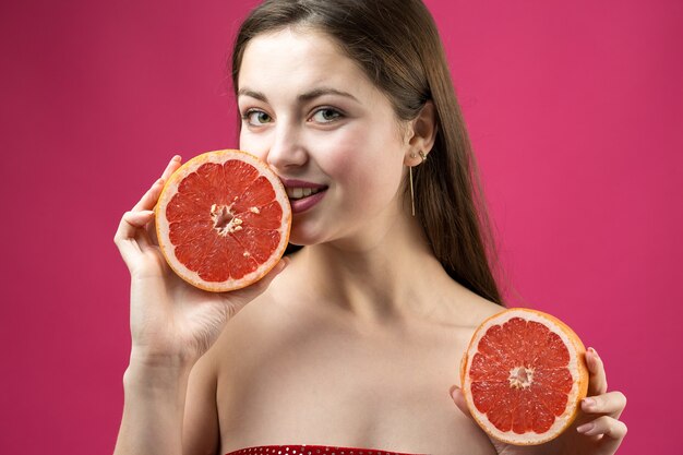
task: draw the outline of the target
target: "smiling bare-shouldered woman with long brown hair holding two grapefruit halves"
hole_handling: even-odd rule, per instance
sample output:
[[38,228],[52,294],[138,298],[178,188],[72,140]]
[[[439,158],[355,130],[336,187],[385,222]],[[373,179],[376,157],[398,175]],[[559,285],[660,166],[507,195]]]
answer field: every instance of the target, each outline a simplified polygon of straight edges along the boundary
[[[133,347],[116,453],[535,453],[490,440],[453,388],[474,330],[502,307],[427,8],[269,0],[232,56],[240,148],[284,183],[290,241],[305,248],[255,285],[209,295],[170,273],[147,236],[159,184],[123,216]],[[611,454],[623,439],[625,400],[587,359],[596,405],[582,418],[595,427],[541,450]]]

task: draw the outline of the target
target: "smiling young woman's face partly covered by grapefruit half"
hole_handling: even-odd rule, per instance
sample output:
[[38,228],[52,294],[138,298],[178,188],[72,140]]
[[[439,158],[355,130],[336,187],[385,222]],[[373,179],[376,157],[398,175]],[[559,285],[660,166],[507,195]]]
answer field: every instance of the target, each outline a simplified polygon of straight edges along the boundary
[[238,85],[240,147],[283,179],[292,243],[372,238],[395,223],[405,130],[388,99],[326,35],[257,36]]

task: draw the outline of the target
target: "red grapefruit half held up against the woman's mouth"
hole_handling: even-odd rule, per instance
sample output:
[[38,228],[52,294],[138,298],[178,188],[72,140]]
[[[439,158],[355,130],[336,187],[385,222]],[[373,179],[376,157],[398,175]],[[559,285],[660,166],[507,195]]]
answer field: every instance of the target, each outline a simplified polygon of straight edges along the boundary
[[155,207],[159,247],[182,279],[214,292],[261,279],[285,253],[291,208],[279,178],[241,151],[182,165]]

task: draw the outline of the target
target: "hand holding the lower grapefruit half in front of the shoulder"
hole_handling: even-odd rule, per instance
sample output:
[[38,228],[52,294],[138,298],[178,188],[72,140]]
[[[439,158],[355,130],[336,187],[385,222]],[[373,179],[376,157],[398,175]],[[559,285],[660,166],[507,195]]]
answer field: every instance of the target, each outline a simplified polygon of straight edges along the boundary
[[[595,349],[588,348],[586,363],[590,373],[588,397],[584,398],[576,420],[562,434],[541,445],[516,446],[491,439],[501,455],[612,455],[626,435],[626,426],[619,418],[626,407],[621,392],[607,391],[604,364]],[[459,387],[451,396],[457,407],[471,418]]]

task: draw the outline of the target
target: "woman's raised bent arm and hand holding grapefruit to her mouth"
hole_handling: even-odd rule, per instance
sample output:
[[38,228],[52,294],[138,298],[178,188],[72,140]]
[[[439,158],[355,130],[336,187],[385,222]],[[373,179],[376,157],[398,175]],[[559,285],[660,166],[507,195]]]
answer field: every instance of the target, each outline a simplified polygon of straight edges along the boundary
[[[212,386],[211,369],[204,370],[201,359],[227,321],[287,265],[280,261],[260,282],[232,292],[207,292],[180,279],[159,250],[153,211],[164,182],[179,167],[175,157],[123,215],[115,236],[131,274],[132,337],[116,455],[180,455],[183,446],[187,453],[215,453],[215,381]],[[183,424],[187,402],[191,414]]]

